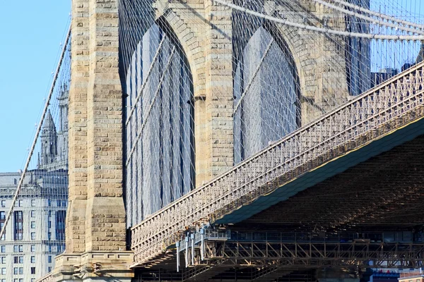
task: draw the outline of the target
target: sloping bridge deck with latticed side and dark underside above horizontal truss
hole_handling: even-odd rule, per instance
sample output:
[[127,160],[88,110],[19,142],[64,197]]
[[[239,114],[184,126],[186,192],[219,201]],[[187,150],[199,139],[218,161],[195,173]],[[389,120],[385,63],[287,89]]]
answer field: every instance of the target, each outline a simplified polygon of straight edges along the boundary
[[134,226],[134,266],[168,264],[165,250],[201,223],[326,232],[423,223],[423,68],[355,97]]

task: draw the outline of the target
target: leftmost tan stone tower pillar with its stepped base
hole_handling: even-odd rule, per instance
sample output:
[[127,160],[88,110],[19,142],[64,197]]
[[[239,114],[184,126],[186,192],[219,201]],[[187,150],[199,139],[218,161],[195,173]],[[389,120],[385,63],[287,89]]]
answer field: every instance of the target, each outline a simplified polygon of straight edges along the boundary
[[54,281],[131,281],[122,198],[117,0],[73,0],[66,253]]

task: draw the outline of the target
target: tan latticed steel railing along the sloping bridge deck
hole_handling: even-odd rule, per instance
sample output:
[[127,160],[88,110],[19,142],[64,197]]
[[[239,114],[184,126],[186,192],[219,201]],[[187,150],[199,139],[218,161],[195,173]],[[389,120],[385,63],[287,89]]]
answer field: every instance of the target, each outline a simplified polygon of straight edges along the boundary
[[[355,97],[148,216],[132,228],[136,264],[160,255],[186,226],[215,221],[288,180],[423,115],[424,62]],[[418,114],[417,114],[418,113]]]

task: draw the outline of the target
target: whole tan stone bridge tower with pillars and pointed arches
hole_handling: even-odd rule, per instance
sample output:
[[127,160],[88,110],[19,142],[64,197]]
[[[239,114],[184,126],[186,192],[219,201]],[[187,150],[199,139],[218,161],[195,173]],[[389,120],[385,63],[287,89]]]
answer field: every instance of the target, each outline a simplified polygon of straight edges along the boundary
[[[122,0],[129,4],[136,1]],[[307,15],[312,24],[325,21],[336,29],[345,26],[343,20],[332,20],[337,17],[331,11],[320,11],[322,7],[312,1],[300,1],[292,11],[274,1],[261,3],[270,15],[290,13],[298,22]],[[151,8],[154,20],[161,18],[175,34],[189,62],[194,92],[195,177],[200,185],[234,164],[233,38],[237,30],[233,28],[233,13],[212,0],[157,0],[151,1]],[[126,251],[122,198],[118,0],[73,0],[72,14],[66,253],[57,257],[53,276],[55,281],[130,281],[132,255]],[[316,45],[300,30],[285,26],[278,30],[298,75],[300,124],[333,106],[324,103],[326,97],[348,99],[344,50],[338,48],[343,42],[322,35]],[[130,53],[136,46],[132,48]],[[340,63],[329,68],[327,61]],[[326,87],[322,77],[337,81],[338,88]]]

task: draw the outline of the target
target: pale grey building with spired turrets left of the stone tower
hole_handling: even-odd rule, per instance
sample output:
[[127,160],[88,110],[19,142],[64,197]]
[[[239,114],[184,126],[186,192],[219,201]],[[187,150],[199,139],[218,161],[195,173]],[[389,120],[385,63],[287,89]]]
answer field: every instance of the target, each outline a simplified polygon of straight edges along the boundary
[[[68,204],[68,90],[59,96],[59,126],[47,113],[37,168],[27,171],[0,240],[0,282],[33,282],[54,269],[65,250]],[[0,173],[0,226],[4,226],[21,172]]]

